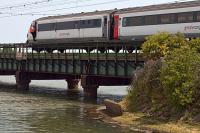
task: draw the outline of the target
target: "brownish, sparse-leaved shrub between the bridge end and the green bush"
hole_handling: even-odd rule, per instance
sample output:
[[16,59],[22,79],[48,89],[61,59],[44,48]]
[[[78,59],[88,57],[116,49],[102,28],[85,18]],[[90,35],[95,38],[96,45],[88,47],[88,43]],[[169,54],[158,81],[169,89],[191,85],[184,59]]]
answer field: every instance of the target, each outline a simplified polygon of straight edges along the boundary
[[162,88],[160,85],[161,60],[150,60],[143,69],[136,70],[132,86],[128,90],[126,101],[130,111],[151,108],[160,102]]

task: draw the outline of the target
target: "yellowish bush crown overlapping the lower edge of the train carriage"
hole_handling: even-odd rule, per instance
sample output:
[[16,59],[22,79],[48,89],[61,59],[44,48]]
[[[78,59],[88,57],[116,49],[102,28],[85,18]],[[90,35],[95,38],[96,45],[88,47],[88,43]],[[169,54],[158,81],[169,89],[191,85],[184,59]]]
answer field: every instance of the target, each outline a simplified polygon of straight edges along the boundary
[[148,36],[142,45],[142,51],[147,59],[159,59],[183,45],[186,45],[186,40],[182,34],[161,32]]

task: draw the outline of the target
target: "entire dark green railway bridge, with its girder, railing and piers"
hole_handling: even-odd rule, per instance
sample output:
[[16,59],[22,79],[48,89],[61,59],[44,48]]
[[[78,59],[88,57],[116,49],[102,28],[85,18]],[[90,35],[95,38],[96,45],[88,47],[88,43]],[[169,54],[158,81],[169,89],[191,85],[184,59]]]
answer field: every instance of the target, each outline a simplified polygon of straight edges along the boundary
[[130,85],[134,70],[144,62],[139,45],[134,52],[122,44],[47,46],[0,45],[0,75],[15,75],[17,89],[23,91],[31,80],[64,79],[69,90],[81,81],[85,97],[96,98],[99,86]]

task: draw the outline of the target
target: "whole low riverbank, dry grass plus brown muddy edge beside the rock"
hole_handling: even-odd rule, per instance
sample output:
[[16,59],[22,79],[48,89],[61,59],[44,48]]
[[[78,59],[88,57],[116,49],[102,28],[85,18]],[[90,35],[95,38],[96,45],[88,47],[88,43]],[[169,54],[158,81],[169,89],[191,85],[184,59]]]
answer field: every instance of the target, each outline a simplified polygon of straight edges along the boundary
[[105,110],[97,111],[100,119],[108,124],[121,128],[144,133],[200,133],[200,123],[183,122],[176,120],[166,121],[144,113],[124,112],[122,116],[111,117]]

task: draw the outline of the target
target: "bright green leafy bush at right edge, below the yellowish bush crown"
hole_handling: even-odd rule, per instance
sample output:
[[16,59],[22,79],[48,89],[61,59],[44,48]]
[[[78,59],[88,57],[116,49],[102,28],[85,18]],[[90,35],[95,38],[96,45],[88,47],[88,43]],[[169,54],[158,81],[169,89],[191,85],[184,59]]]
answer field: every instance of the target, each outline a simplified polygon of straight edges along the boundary
[[167,100],[174,107],[186,107],[193,102],[195,80],[200,68],[199,54],[189,47],[171,51],[164,59],[161,82]]

